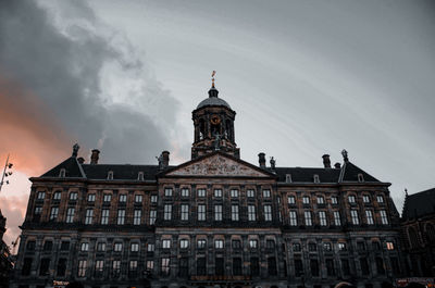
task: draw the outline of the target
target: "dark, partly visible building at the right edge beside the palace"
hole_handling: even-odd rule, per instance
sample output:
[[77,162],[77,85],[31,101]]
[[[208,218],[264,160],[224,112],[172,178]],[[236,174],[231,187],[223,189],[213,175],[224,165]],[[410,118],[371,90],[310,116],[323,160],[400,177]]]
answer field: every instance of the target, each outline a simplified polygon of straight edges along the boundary
[[401,231],[408,276],[435,277],[435,188],[406,193]]

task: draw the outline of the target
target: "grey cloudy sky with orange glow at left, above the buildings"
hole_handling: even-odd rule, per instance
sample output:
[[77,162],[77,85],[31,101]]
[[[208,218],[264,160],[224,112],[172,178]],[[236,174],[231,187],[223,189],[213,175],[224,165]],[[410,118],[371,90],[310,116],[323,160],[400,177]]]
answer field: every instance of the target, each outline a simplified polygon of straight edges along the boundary
[[191,111],[216,71],[241,159],[352,163],[403,189],[433,188],[432,1],[0,1],[0,192],[7,243],[30,183],[71,155],[190,159]]

